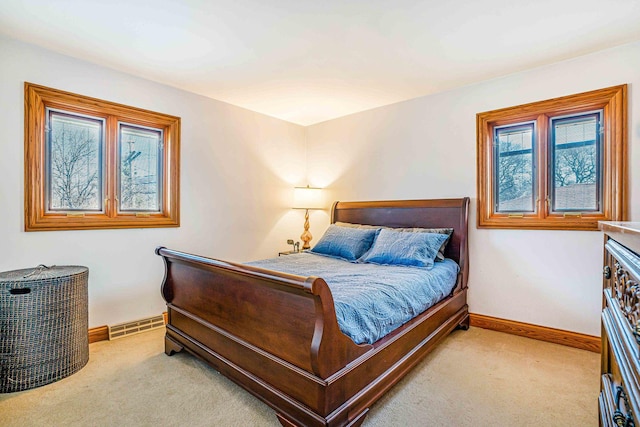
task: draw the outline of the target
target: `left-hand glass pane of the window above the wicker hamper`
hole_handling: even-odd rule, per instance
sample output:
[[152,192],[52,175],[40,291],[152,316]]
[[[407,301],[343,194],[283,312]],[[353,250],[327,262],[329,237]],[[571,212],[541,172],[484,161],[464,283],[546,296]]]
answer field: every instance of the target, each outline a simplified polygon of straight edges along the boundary
[[102,211],[104,121],[47,109],[49,211]]

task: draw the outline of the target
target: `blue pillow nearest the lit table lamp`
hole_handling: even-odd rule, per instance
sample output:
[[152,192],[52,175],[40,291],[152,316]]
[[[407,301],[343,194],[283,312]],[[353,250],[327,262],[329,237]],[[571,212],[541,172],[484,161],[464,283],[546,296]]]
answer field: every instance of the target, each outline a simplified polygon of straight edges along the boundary
[[377,229],[339,227],[331,224],[311,252],[355,261],[369,250]]

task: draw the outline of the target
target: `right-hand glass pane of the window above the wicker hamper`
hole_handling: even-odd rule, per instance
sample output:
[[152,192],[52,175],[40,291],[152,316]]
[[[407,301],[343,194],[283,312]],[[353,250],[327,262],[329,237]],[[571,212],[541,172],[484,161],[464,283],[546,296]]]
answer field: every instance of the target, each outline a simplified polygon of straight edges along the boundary
[[120,125],[120,210],[162,210],[162,130]]

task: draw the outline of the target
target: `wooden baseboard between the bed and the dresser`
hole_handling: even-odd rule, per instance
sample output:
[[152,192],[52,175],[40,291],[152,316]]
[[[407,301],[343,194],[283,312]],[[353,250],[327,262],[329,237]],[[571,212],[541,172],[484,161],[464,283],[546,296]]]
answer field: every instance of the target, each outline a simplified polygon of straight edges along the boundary
[[600,353],[600,337],[593,335],[579,334],[576,332],[563,331],[562,329],[547,328],[530,323],[515,322],[513,320],[499,319],[497,317],[474,313],[469,314],[469,321],[471,326],[478,328],[491,329],[507,334],[519,335],[521,337]]

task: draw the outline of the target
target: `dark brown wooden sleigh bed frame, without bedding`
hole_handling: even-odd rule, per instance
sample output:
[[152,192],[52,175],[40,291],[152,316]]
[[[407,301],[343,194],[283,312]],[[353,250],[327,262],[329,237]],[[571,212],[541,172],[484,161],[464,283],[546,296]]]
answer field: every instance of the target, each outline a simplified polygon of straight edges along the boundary
[[[336,320],[324,280],[157,248],[165,262],[165,352],[186,350],[275,409],[283,426],[358,426],[456,327],[468,328],[469,199],[336,202],[331,222],[451,227],[451,295],[372,345]],[[427,391],[425,391],[427,392]]]

